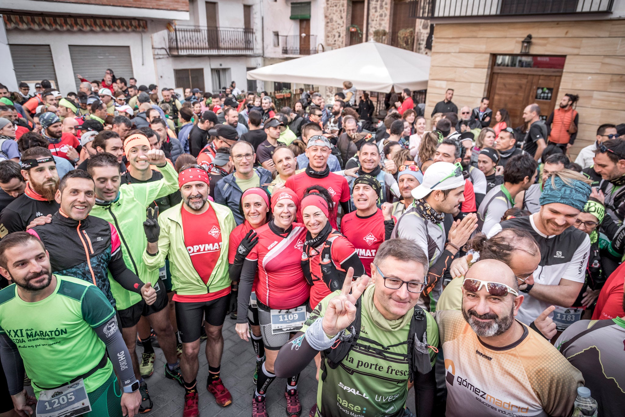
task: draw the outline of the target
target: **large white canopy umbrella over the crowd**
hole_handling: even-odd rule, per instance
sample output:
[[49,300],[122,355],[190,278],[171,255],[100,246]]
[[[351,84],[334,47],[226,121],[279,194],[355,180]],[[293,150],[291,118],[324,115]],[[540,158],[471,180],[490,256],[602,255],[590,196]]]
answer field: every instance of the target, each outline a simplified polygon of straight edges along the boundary
[[387,93],[393,86],[426,89],[429,68],[427,55],[369,41],[252,69],[247,79],[319,86],[351,81],[357,89]]

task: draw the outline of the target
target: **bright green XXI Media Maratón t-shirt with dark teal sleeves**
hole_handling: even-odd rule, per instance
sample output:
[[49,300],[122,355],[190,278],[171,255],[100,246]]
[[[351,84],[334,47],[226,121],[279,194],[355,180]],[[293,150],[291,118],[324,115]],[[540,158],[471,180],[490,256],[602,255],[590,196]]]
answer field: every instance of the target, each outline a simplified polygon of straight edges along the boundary
[[[0,291],[0,333],[17,345],[37,398],[39,387],[63,385],[98,365],[106,345],[93,328],[115,315],[98,287],[71,276],[55,276],[54,293],[36,303],[22,300],[16,284]],[[84,380],[86,391],[95,391],[111,373],[113,364],[107,360],[104,368]]]

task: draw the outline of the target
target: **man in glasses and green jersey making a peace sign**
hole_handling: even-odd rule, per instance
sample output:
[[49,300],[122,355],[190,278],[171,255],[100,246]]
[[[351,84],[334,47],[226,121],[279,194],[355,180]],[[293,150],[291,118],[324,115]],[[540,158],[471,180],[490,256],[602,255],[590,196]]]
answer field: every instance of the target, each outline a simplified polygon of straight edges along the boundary
[[[427,334],[426,339],[422,333],[415,334],[420,342],[417,348],[423,352],[412,355],[411,362],[416,363],[418,371],[412,373],[409,369],[407,354],[411,321],[425,288],[426,272],[427,256],[413,241],[399,238],[382,243],[371,264],[372,285],[367,286],[367,276],[352,282],[350,268],[343,289],[324,298],[302,331],[280,349],[275,365],[277,378],[297,374],[319,351],[324,351],[316,416],[403,416],[407,382],[412,376],[417,414],[430,415],[436,388],[432,368],[436,352],[432,346],[438,344],[438,329],[432,316],[418,307]],[[331,348],[349,343],[337,339],[347,329],[354,330],[357,302],[361,303],[357,339],[332,369],[329,360],[336,357],[332,358]]]

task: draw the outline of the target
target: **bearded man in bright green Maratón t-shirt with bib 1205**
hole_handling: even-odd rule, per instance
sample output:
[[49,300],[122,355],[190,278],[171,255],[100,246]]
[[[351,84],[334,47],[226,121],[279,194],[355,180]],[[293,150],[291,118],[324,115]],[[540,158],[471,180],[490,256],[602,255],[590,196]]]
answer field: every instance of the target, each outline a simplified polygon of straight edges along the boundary
[[[139,381],[104,293],[53,275],[44,244],[26,232],[0,241],[0,273],[13,282],[0,291],[0,357],[16,412],[62,415],[90,404],[90,417],[137,414]],[[38,402],[24,389],[24,369]]]

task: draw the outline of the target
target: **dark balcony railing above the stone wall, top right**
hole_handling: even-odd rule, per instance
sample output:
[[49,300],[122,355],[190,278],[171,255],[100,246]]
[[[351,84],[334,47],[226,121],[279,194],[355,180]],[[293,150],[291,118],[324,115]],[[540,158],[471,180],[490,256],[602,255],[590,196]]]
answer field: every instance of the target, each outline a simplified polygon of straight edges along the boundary
[[611,13],[614,0],[412,0],[412,18]]

